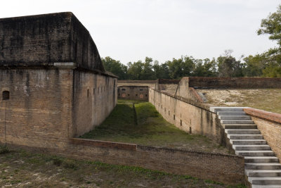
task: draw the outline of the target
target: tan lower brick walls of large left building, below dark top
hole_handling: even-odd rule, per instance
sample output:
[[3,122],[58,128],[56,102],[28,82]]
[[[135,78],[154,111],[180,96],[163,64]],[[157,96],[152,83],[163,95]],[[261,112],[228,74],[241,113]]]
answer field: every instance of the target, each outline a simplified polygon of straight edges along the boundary
[[[103,122],[117,104],[115,77],[27,68],[0,70],[0,80],[2,143],[63,149],[69,138]],[[9,100],[3,100],[4,91]]]

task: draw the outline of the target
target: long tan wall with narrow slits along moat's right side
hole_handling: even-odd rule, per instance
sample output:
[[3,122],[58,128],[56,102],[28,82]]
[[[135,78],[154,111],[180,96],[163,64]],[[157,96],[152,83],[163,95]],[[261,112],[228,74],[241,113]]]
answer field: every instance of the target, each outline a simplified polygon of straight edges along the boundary
[[220,120],[216,113],[209,111],[209,106],[155,89],[150,89],[149,101],[169,123],[181,130],[206,135],[219,144],[226,144]]

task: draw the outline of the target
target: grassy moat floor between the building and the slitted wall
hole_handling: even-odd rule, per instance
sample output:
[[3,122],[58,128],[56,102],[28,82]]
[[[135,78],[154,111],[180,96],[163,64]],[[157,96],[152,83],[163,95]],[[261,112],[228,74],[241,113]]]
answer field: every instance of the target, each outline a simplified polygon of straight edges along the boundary
[[[133,103],[136,109],[136,120],[134,119]],[[228,153],[228,149],[219,146],[207,137],[179,130],[164,120],[155,106],[143,101],[118,100],[117,106],[103,124],[81,138]]]

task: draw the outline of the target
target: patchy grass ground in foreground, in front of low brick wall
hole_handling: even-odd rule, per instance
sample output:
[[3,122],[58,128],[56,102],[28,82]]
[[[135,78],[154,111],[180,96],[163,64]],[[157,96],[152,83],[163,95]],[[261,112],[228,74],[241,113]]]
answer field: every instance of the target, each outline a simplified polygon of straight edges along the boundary
[[0,187],[232,187],[188,175],[11,151],[0,155]]

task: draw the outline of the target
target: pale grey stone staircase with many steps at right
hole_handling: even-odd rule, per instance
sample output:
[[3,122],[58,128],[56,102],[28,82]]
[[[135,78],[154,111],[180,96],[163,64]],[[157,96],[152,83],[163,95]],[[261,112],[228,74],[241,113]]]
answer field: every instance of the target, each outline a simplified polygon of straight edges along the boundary
[[221,119],[235,154],[244,156],[251,187],[280,188],[281,164],[243,107],[211,107],[211,111]]

